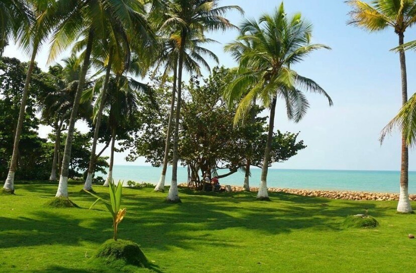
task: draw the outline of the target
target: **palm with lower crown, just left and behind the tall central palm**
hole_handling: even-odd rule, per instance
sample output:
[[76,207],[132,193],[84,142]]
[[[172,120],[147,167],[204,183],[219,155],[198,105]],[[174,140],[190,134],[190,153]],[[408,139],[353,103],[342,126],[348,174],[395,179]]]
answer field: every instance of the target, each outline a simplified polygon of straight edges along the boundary
[[[163,157],[163,167],[162,173],[160,175],[160,179],[158,184],[155,187],[155,191],[163,192],[165,190],[165,177],[166,177],[166,170],[167,164],[169,160],[169,151],[170,151],[170,140],[172,134],[172,124],[173,124],[173,115],[175,109],[175,96],[176,96],[176,84],[177,84],[177,65],[178,65],[178,49],[180,44],[180,36],[177,33],[173,33],[170,37],[160,37],[162,41],[162,48],[161,54],[156,56],[156,65],[155,65],[155,72],[163,66],[163,74],[162,74],[162,84],[165,82],[167,75],[171,70],[173,70],[173,77],[172,77],[172,96],[171,96],[171,104],[170,104],[170,112],[169,112],[169,121],[166,133],[166,141],[165,141],[165,153]],[[203,56],[210,57],[211,59],[215,60],[217,63],[219,62],[217,55],[215,55],[212,51],[203,48],[202,45],[206,43],[215,43],[217,41],[212,39],[207,39],[200,33],[190,33],[188,36],[188,40],[186,41],[186,49],[184,52],[184,65],[185,69],[190,73],[201,74],[201,67],[199,63],[208,71],[211,71],[209,64],[204,60]]]

